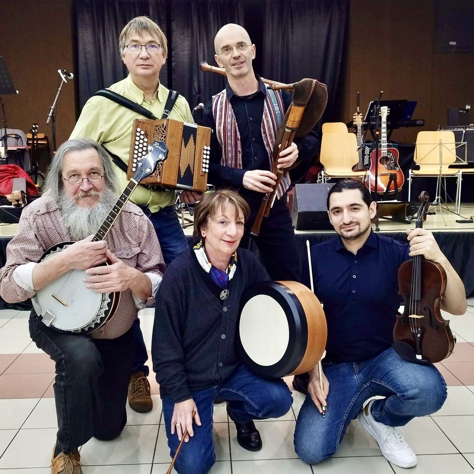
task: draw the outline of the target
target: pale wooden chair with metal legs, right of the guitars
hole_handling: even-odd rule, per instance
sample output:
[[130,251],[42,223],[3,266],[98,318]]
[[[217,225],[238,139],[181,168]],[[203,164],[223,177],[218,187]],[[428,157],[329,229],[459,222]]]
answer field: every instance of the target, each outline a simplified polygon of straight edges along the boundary
[[457,178],[456,183],[456,211],[461,205],[461,170],[450,168],[449,165],[456,161],[456,139],[450,130],[418,132],[413,157],[419,169],[408,171],[408,200],[411,197],[411,180],[413,176],[436,178],[435,201],[441,198],[441,178]]

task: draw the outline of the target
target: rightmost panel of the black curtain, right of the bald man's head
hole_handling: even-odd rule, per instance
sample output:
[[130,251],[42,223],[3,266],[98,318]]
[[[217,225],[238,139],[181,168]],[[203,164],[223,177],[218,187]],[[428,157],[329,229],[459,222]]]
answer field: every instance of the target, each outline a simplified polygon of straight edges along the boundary
[[262,75],[324,82],[328,102],[319,124],[333,116],[348,17],[348,0],[265,0]]

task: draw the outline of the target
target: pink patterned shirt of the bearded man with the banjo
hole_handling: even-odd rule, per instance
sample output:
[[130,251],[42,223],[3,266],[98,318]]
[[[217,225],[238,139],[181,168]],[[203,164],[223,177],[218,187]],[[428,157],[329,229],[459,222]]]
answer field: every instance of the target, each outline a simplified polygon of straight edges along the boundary
[[[19,286],[13,272],[19,265],[39,262],[43,253],[53,245],[70,241],[62,223],[56,202],[42,196],[29,204],[21,214],[18,231],[6,248],[6,264],[0,269],[0,295],[9,303],[25,301],[35,295]],[[128,266],[143,273],[162,276],[165,266],[158,237],[150,220],[135,204],[126,203],[106,238],[108,248]],[[155,298],[149,298],[147,306]],[[120,293],[115,315],[91,336],[96,339],[115,339],[131,327],[138,310],[132,292]]]

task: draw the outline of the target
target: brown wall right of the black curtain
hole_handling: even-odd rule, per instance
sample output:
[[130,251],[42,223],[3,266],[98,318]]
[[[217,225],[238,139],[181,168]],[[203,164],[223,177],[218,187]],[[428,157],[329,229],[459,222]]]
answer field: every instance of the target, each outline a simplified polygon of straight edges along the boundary
[[[434,51],[433,0],[351,0],[350,35],[343,107],[339,119],[348,122],[381,90],[383,99],[418,101],[413,118],[424,128],[395,130],[395,141],[414,142],[419,130],[447,125],[447,109],[474,107],[474,53]],[[474,111],[471,112],[474,121]]]

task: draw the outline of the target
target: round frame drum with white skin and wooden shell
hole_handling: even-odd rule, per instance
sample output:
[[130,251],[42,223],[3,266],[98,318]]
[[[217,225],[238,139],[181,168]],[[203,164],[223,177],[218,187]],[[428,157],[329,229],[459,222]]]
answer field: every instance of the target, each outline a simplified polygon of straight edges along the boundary
[[314,293],[295,281],[265,281],[240,301],[237,349],[257,375],[280,378],[307,372],[322,356],[327,327]]

